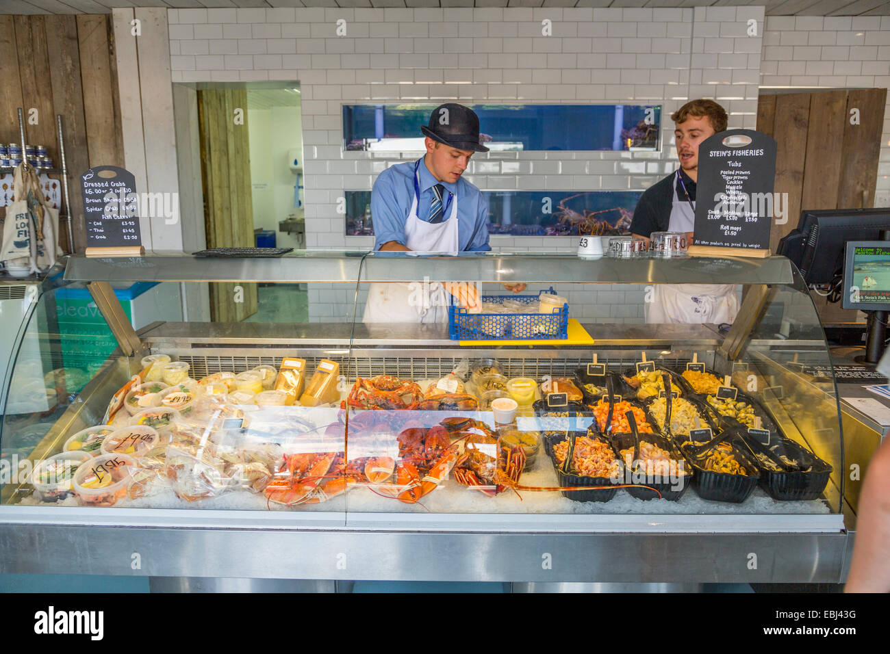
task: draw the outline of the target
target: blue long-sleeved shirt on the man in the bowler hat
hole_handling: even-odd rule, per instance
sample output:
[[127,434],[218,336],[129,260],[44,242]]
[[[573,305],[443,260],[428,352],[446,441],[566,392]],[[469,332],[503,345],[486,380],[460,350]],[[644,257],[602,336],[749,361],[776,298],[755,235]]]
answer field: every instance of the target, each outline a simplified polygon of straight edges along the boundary
[[[414,165],[416,161],[390,166],[377,176],[374,190],[371,191],[371,216],[374,222],[374,249],[389,241],[405,243],[405,222],[414,199]],[[439,182],[426,168],[424,161],[417,166],[420,198],[417,200],[417,217],[425,222],[430,220],[430,206],[433,204],[433,186],[441,184],[457,198],[457,243],[462,252],[487,252],[489,245],[488,215],[489,206],[481,190],[467,182],[463,176],[457,183]],[[448,194],[442,194],[442,206],[448,205]],[[451,207],[443,215],[450,220]]]

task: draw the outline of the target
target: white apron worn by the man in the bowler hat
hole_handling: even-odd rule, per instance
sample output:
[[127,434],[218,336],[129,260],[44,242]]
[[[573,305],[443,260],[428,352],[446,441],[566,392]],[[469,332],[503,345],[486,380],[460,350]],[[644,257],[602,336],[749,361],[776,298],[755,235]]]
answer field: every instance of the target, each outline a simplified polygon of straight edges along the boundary
[[[452,254],[460,247],[457,239],[457,196],[451,198],[451,214],[442,222],[424,222],[417,217],[420,183],[414,165],[414,199],[405,222],[405,246],[413,252],[406,254]],[[368,302],[362,322],[420,322],[434,323],[448,320],[451,295],[441,282],[376,283],[368,287]]]

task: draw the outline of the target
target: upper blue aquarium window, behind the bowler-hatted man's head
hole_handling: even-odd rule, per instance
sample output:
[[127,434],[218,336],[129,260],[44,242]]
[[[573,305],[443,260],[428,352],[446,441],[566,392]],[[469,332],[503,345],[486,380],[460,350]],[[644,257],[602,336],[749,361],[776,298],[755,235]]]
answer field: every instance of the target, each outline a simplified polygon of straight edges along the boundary
[[[343,107],[344,149],[425,150],[421,125],[432,104]],[[644,104],[472,104],[490,150],[658,150],[661,106]]]

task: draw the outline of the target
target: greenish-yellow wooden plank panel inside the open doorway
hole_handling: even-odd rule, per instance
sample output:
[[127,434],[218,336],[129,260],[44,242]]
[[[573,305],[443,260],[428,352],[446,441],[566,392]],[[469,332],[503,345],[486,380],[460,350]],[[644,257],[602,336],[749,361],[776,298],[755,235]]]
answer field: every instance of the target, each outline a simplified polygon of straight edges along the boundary
[[[235,109],[245,109],[244,124],[235,125]],[[207,247],[254,246],[254,209],[250,187],[247,136],[247,91],[198,91],[198,133],[204,180]],[[235,287],[243,289],[236,302]],[[255,313],[255,284],[211,284],[210,316],[235,322]]]

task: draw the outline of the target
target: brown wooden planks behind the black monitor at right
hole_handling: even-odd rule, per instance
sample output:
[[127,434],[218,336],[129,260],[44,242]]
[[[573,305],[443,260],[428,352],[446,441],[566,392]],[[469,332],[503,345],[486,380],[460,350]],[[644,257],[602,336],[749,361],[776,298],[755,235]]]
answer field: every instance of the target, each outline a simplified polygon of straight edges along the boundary
[[[886,89],[761,95],[757,130],[777,141],[775,192],[789,194],[789,220],[773,225],[773,251],[797,227],[802,209],[874,206]],[[850,109],[859,109],[851,125]],[[861,322],[813,295],[822,322]]]

